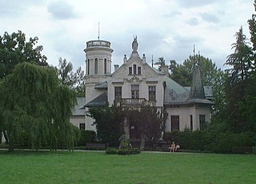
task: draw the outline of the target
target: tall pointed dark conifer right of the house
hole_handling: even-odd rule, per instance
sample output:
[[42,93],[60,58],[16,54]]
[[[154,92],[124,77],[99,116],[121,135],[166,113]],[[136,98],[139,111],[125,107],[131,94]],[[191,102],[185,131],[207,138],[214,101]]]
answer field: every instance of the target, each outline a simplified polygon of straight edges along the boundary
[[226,79],[226,102],[228,121],[233,131],[246,131],[249,127],[247,117],[243,115],[242,105],[248,95],[250,88],[252,62],[251,49],[247,43],[246,36],[242,32],[242,27],[235,34],[236,42],[232,44],[234,53],[231,53],[226,60],[226,65],[230,65],[231,69],[227,69],[228,77]]

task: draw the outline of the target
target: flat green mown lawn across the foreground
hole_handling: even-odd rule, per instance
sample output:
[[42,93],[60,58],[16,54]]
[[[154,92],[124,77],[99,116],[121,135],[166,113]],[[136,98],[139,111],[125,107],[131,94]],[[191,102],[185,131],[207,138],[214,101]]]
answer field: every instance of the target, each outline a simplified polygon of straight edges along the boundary
[[256,183],[256,155],[0,151],[0,183]]

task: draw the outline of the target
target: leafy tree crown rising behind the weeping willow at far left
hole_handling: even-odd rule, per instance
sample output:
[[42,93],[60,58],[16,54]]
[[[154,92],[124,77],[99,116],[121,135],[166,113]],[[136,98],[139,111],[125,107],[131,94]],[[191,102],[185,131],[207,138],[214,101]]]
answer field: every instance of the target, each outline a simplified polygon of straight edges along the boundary
[[25,33],[4,33],[0,36],[0,79],[12,72],[14,66],[22,62],[33,62],[38,65],[48,65],[46,56],[42,55],[42,45],[38,37],[30,37],[26,41]]

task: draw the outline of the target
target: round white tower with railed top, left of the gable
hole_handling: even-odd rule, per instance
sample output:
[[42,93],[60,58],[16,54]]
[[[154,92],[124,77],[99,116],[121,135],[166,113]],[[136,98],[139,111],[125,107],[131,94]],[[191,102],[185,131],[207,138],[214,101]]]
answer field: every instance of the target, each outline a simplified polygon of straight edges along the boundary
[[[84,49],[86,53],[86,104],[107,91],[106,78],[111,74],[113,51],[110,47],[110,41],[86,42],[86,49]],[[88,108],[86,108],[86,112],[88,112]],[[86,121],[90,120],[89,117],[86,117]],[[90,129],[90,127],[88,128]]]

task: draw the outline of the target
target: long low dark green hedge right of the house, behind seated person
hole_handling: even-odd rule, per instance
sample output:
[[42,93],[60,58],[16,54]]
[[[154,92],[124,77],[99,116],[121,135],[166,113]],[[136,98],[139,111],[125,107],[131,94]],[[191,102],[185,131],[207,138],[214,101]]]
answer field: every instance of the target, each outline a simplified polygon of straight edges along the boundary
[[200,151],[232,153],[232,147],[253,147],[254,135],[250,132],[230,131],[172,131],[166,132],[163,139],[180,145],[180,151]]

